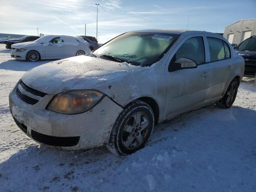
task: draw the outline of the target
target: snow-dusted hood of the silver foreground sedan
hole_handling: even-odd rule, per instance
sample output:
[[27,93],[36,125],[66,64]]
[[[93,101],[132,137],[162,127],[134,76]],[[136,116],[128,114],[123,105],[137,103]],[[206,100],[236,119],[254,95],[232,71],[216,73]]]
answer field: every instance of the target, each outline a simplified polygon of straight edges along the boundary
[[76,56],[33,68],[24,74],[22,81],[38,91],[58,94],[67,90],[96,89],[98,85],[146,69],[126,62]]

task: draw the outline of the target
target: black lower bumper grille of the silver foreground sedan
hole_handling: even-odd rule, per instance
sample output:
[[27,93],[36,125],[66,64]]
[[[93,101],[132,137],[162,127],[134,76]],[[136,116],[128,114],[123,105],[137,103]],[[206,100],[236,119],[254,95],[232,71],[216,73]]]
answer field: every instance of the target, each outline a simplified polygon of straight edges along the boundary
[[34,130],[31,130],[31,136],[34,140],[51,146],[58,147],[71,147],[76,146],[79,142],[80,137],[55,137],[49,136],[42,133],[38,133]]

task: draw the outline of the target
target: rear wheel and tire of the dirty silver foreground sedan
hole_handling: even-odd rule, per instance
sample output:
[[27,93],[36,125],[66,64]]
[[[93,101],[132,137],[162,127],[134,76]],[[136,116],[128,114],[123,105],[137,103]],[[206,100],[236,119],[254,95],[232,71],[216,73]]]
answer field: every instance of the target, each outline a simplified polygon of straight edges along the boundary
[[230,82],[228,89],[226,90],[226,93],[224,94],[224,97],[222,98],[222,100],[217,102],[216,105],[222,109],[230,108],[236,99],[238,86],[239,86],[238,80],[236,78],[234,78]]

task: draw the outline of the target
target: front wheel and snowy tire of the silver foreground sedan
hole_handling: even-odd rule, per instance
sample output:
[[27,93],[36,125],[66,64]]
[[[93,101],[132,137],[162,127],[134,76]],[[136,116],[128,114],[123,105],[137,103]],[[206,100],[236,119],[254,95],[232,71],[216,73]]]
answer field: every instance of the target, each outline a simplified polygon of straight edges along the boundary
[[135,100],[128,104],[116,119],[107,148],[117,155],[132,154],[144,148],[153,128],[153,110],[145,102]]

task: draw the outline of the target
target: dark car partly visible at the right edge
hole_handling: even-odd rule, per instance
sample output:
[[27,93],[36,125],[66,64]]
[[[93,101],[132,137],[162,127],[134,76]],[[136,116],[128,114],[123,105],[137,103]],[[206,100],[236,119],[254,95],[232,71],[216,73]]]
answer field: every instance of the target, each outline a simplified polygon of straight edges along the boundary
[[256,36],[244,40],[236,48],[236,53],[244,58],[244,76],[255,77],[256,73]]

